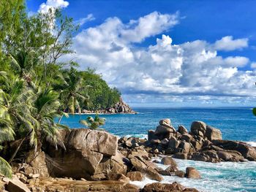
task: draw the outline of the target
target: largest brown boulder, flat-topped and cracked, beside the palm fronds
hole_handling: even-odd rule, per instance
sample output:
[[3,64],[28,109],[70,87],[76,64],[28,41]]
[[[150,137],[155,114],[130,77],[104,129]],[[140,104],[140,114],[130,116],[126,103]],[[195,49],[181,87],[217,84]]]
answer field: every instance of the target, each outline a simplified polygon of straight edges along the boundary
[[56,150],[50,143],[45,145],[52,176],[105,180],[112,174],[126,174],[116,136],[106,131],[77,128],[60,130],[60,139],[66,150],[60,147]]

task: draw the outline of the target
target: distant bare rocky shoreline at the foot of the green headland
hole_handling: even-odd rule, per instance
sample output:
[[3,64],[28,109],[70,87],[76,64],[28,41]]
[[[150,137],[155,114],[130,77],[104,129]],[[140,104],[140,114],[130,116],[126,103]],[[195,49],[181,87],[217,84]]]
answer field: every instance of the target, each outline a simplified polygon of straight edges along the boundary
[[129,107],[129,104],[126,104],[123,99],[120,98],[117,104],[115,104],[113,107],[109,107],[105,110],[96,110],[96,111],[89,111],[89,110],[83,110],[82,111],[85,114],[118,114],[118,113],[123,113],[123,114],[136,114],[134,110],[132,110],[131,107]]

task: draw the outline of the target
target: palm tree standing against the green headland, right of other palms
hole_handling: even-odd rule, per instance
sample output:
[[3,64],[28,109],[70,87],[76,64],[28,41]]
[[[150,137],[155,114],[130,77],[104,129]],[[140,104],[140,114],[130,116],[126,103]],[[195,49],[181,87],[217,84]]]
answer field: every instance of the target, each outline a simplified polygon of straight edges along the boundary
[[[61,100],[63,106],[63,112],[70,112],[72,114],[75,113],[75,110],[81,112],[80,102],[84,102],[85,104],[89,101],[89,96],[83,96],[82,91],[83,88],[83,78],[80,77],[80,74],[74,68],[71,68],[69,71],[64,72],[64,84],[61,88]],[[61,115],[61,118],[63,115]],[[59,118],[59,123],[61,122],[61,118]]]

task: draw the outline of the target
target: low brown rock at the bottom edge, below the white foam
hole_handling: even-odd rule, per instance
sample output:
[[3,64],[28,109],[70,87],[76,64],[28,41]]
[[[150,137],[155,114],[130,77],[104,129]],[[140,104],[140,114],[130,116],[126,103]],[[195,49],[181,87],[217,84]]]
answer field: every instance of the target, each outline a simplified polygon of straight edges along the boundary
[[172,183],[172,184],[166,184],[166,183],[151,183],[144,186],[142,192],[167,192],[167,191],[175,191],[175,192],[181,192],[181,191],[192,191],[196,192],[196,189],[189,189],[184,188],[179,183]]

